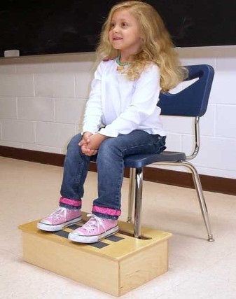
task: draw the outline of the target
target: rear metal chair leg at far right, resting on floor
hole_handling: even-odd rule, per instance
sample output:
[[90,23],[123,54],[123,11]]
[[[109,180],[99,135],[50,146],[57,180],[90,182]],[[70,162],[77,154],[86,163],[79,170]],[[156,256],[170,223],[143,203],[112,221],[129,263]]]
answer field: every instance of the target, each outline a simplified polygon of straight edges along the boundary
[[204,223],[205,223],[206,228],[207,228],[207,233],[208,233],[208,239],[207,240],[209,242],[214,242],[214,237],[211,233],[211,225],[210,225],[210,222],[209,222],[207,204],[205,202],[204,195],[202,193],[202,184],[200,182],[200,178],[199,178],[199,175],[197,173],[197,170],[188,161],[181,161],[180,163],[181,163],[181,165],[184,165],[184,166],[188,167],[188,169],[190,169],[190,171],[192,172],[193,181],[194,181],[194,184],[195,184],[195,189],[197,191],[197,197],[198,197],[198,201],[199,201],[199,204],[200,204],[200,209],[202,211],[202,216],[203,216],[203,219],[204,219]]

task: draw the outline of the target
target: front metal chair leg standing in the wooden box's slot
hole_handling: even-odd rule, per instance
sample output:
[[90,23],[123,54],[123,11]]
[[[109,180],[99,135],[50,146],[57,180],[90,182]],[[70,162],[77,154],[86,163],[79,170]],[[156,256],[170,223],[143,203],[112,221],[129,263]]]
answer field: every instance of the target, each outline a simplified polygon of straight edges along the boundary
[[141,200],[143,192],[143,169],[135,172],[134,237],[141,237]]

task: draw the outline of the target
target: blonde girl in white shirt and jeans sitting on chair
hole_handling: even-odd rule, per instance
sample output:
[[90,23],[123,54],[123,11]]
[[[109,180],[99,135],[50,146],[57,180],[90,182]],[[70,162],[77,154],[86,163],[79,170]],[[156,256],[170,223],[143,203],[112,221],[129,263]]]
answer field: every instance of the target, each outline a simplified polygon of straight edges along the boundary
[[118,232],[124,157],[165,149],[158,96],[183,80],[160,15],[141,1],[113,6],[97,53],[102,62],[92,81],[83,134],[71,139],[64,160],[60,207],[37,225],[55,231],[81,221],[83,184],[96,157],[98,198],[91,218],[69,234],[70,240],[82,243]]

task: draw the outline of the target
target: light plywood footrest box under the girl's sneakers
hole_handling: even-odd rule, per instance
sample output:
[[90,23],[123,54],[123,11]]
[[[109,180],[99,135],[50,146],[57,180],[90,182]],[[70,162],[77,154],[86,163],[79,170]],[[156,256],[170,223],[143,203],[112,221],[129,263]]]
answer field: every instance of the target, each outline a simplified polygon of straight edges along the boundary
[[87,286],[120,296],[167,272],[169,232],[142,228],[136,239],[133,225],[119,221],[116,235],[78,244],[67,239],[76,225],[52,233],[38,230],[37,222],[19,227],[24,260]]

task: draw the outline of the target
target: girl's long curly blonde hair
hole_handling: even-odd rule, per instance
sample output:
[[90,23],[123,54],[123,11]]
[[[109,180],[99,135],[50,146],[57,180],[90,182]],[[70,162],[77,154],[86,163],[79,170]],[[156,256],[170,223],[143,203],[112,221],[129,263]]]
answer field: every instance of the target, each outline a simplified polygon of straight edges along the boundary
[[125,73],[130,80],[137,80],[144,68],[151,62],[160,68],[160,87],[162,92],[178,85],[186,76],[186,70],[180,67],[179,57],[164,22],[153,6],[142,1],[123,1],[111,8],[102,27],[97,53],[99,59],[113,59],[119,55],[109,42],[109,31],[113,13],[127,10],[139,22],[141,47],[133,55],[132,64]]

